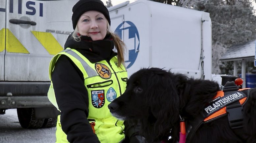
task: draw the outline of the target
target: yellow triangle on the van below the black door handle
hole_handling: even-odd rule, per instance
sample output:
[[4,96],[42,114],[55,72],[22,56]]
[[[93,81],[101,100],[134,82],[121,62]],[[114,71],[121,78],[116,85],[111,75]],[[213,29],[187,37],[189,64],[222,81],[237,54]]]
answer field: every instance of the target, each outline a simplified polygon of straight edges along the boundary
[[8,28],[6,30],[6,51],[11,53],[29,54],[28,50],[19,42]]

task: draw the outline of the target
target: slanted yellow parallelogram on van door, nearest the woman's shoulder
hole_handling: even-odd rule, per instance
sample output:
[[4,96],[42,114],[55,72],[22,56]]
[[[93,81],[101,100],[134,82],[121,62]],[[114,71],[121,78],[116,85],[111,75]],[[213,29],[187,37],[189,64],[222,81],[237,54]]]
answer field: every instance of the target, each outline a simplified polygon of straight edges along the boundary
[[31,31],[37,40],[44,46],[44,48],[51,55],[56,55],[63,50],[63,47],[49,32]]

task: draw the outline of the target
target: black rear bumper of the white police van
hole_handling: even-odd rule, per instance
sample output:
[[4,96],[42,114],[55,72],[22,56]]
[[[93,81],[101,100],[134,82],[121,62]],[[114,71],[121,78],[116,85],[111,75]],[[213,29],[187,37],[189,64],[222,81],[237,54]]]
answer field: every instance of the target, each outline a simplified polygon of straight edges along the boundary
[[0,81],[0,109],[53,107],[47,98],[50,82]]

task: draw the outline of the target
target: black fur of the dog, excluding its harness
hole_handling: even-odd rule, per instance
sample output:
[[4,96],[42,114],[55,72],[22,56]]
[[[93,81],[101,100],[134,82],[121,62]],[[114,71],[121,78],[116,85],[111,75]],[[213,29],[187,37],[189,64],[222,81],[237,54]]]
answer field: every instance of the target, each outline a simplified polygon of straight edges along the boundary
[[[141,134],[148,143],[175,142],[179,140],[180,116],[186,121],[200,116],[212,100],[219,85],[210,80],[187,78],[159,68],[141,69],[127,81],[123,95],[108,106],[113,116],[123,120],[138,121]],[[256,142],[256,90],[243,107],[244,128],[235,134],[227,116],[203,124],[192,137],[192,143]],[[171,135],[173,139],[167,141]]]

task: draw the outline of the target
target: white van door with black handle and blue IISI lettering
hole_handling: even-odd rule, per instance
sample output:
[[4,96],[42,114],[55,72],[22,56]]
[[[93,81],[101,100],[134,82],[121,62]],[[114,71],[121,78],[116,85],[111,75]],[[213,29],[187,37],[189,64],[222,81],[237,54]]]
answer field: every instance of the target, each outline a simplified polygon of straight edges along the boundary
[[5,80],[49,80],[49,62],[73,31],[77,1],[7,0]]

